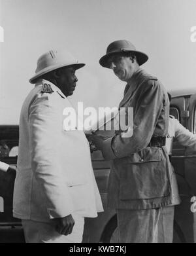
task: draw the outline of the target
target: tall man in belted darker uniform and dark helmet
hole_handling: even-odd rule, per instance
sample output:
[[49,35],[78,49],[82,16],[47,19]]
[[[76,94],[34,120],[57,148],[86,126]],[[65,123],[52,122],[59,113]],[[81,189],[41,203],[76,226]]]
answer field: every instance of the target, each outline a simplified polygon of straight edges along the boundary
[[[116,208],[120,242],[157,242],[161,211],[180,202],[165,149],[169,100],[161,82],[140,69],[147,60],[129,41],[120,40],[111,43],[99,61],[127,82],[119,109],[133,107],[130,136],[128,128],[127,136],[119,130],[107,139],[95,134],[89,138],[112,160],[108,206]],[[172,234],[168,239],[172,242]]]

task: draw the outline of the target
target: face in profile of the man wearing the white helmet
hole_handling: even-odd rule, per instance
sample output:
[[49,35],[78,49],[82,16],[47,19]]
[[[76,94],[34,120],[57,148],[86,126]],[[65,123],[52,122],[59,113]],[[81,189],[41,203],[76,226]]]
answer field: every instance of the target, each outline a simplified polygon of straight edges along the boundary
[[59,70],[57,84],[65,96],[71,96],[76,88],[78,81],[73,67],[63,67]]

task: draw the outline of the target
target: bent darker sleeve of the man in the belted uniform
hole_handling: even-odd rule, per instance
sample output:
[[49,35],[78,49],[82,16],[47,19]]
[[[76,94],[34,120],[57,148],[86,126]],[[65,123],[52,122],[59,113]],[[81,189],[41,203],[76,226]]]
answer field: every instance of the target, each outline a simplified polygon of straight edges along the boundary
[[142,84],[142,93],[137,101],[133,117],[133,136],[118,134],[103,141],[105,159],[122,158],[141,151],[150,143],[157,120],[163,109],[163,87],[159,82],[149,80]]

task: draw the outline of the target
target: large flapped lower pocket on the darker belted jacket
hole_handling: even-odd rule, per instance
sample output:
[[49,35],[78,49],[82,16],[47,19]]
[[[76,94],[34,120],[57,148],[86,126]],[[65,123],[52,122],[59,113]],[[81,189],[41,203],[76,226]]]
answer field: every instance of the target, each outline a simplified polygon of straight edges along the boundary
[[167,160],[161,154],[161,149],[147,147],[123,159],[121,200],[161,198],[170,194]]

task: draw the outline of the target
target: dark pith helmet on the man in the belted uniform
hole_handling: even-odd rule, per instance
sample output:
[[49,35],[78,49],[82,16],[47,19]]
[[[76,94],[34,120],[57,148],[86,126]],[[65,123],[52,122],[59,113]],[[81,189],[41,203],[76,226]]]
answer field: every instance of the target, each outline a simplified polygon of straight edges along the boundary
[[135,46],[131,42],[127,40],[118,40],[108,45],[106,55],[99,60],[99,64],[103,67],[110,68],[110,66],[108,65],[108,57],[114,54],[118,54],[120,52],[133,52],[133,54],[135,54],[137,58],[137,62],[139,65],[144,64],[148,60],[148,56],[144,54],[144,52],[139,52],[138,50],[136,50]]

